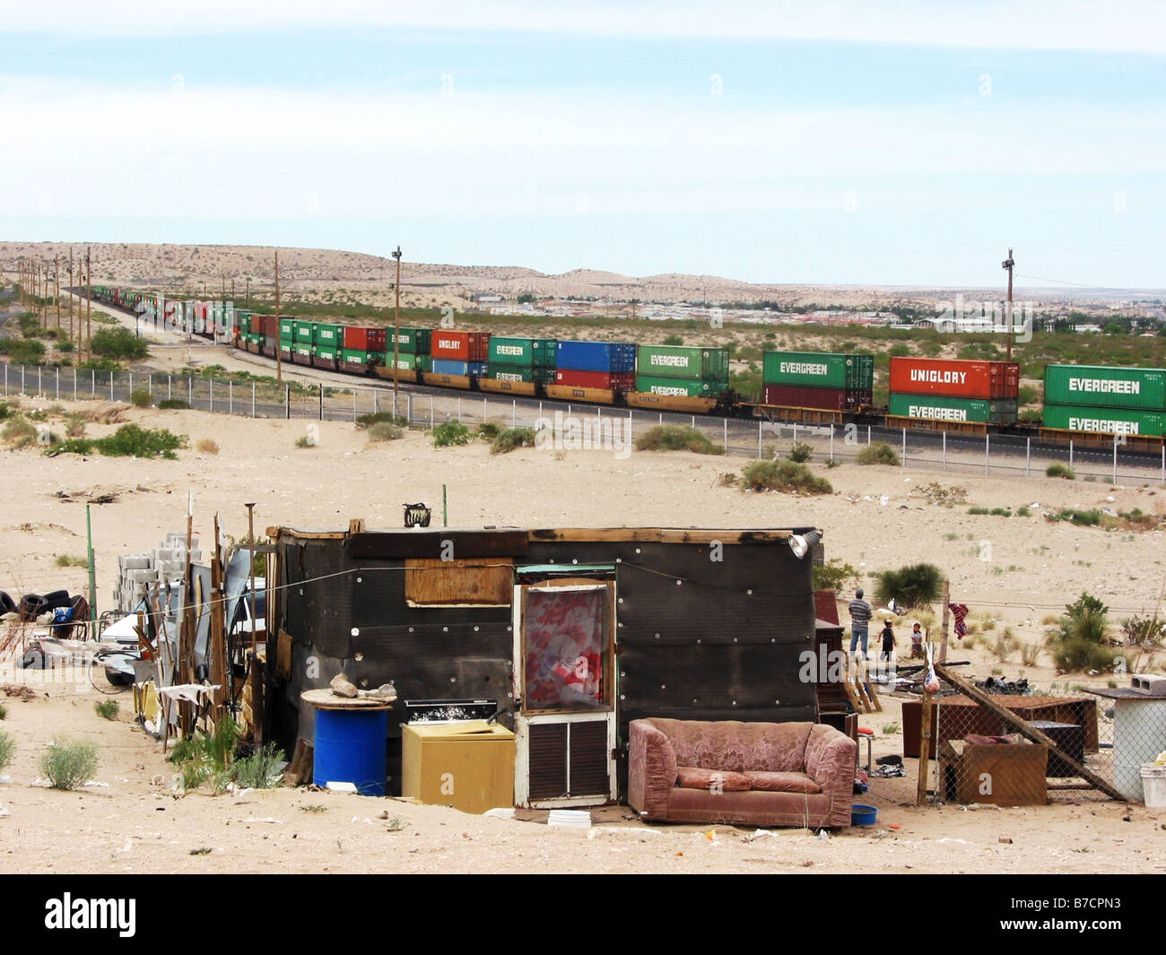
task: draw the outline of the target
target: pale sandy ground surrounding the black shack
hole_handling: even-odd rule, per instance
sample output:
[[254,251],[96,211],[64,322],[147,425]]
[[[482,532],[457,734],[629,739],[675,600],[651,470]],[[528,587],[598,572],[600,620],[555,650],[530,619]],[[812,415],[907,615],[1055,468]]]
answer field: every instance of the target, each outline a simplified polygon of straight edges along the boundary
[[[63,409],[72,408],[62,402]],[[77,407],[92,407],[78,402]],[[184,528],[194,493],[196,532],[211,536],[217,512],[224,531],[246,533],[244,501],[257,501],[257,526],[370,528],[401,524],[405,501],[427,501],[440,514],[449,490],[450,525],[704,526],[823,528],[828,556],[862,573],[928,560],[946,568],[953,597],[993,620],[989,637],[1012,627],[1023,641],[1042,640],[1041,618],[1082,590],[1102,597],[1119,619],[1153,609],[1163,587],[1163,535],[1104,533],[1049,524],[1040,517],[970,515],[919,496],[920,483],[941,475],[845,464],[828,472],[836,493],[822,498],[746,494],[721,486],[743,462],[687,452],[527,449],[492,457],[485,445],[434,449],[412,431],[396,442],[370,444],[352,424],[319,423],[321,443],[298,449],[302,421],[252,421],[197,412],[125,409],[124,420],[167,427],[217,442],[217,454],[194,450],[180,459],[48,458],[34,449],[0,450],[0,588],[19,595],[57,588],[77,591],[85,570],[56,566],[57,555],[85,550],[87,498],[113,491],[118,500],[93,506],[100,608],[111,605],[117,555],[147,550],[169,531]],[[90,426],[100,435],[114,426]],[[1041,508],[1166,507],[1153,487],[1111,487],[1033,478],[1006,482],[961,475],[944,480],[968,490],[968,504]],[[62,498],[58,492],[64,492]],[[1112,498],[1112,501],[1108,499]],[[985,542],[988,545],[985,552]],[[984,554],[988,560],[983,560]],[[870,584],[866,578],[865,583]],[[906,644],[900,630],[900,649]],[[977,648],[953,652],[967,669],[993,668],[1016,679],[1024,672],[1041,689],[1056,683],[1104,684],[1104,674],[1056,676],[1047,654],[1024,667],[1013,652],[1004,662]],[[1158,662],[1154,662],[1158,667]],[[1160,668],[1159,668],[1160,670]],[[8,670],[0,682],[35,680]],[[108,689],[98,676],[97,684]],[[1166,869],[1166,812],[1061,795],[1058,805],[1028,809],[913,805],[914,779],[874,780],[866,801],[880,809],[874,829],[850,829],[828,841],[784,830],[747,838],[750,829],[641,827],[626,810],[597,814],[593,830],[559,831],[531,821],[468,816],[451,809],[366,800],[310,791],[275,791],[175,799],[166,786],[170,766],[159,744],[129,722],[122,695],[118,722],[93,711],[100,698],[87,680],[36,687],[36,698],[6,702],[2,728],[17,744],[0,784],[0,851],[19,871],[1161,871]],[[43,690],[48,689],[48,696]],[[901,752],[901,738],[884,731],[898,721],[898,702],[863,718],[878,733],[874,754]],[[35,784],[36,764],[56,732],[94,737],[101,750],[97,781],[107,787],[59,793]],[[1104,730],[1103,730],[1104,732]],[[1104,738],[1104,737],[1103,737]],[[913,760],[908,760],[908,764]],[[161,782],[154,781],[155,779]],[[324,807],[309,812],[305,807]],[[399,831],[379,819],[400,819]],[[1129,814],[1130,821],[1123,817]],[[271,821],[274,820],[274,821]],[[368,820],[365,822],[365,820]],[[891,828],[898,826],[898,829]],[[1011,843],[1000,840],[1011,838]],[[294,841],[294,842],[293,842]],[[35,850],[33,847],[35,845]],[[191,850],[210,848],[205,855]]]

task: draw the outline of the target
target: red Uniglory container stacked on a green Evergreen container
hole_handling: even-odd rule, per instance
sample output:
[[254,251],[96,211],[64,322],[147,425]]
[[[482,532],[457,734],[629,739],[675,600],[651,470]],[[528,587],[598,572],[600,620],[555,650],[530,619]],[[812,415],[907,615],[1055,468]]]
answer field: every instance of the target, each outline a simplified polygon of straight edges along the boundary
[[1020,366],[957,358],[891,359],[890,414],[928,421],[1014,424]]

